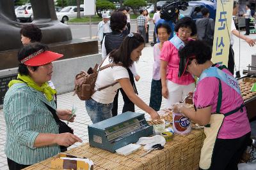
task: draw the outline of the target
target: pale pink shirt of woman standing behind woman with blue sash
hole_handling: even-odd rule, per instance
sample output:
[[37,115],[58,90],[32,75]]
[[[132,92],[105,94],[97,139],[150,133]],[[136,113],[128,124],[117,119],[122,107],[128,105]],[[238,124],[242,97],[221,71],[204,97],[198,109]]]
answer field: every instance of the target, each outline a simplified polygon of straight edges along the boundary
[[154,64],[153,64],[153,80],[160,80],[160,55],[159,43],[154,45]]

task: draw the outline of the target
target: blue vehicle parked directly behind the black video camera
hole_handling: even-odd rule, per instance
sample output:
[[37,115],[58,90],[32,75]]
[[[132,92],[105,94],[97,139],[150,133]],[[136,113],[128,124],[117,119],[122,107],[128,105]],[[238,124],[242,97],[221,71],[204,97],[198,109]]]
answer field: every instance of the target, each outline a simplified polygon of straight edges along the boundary
[[186,17],[191,17],[193,20],[198,20],[199,18],[202,18],[203,15],[201,13],[202,8],[208,8],[210,12],[209,18],[212,18],[215,20],[216,17],[216,5],[212,3],[211,1],[189,1],[188,9],[183,11],[180,10],[180,13],[183,14]]

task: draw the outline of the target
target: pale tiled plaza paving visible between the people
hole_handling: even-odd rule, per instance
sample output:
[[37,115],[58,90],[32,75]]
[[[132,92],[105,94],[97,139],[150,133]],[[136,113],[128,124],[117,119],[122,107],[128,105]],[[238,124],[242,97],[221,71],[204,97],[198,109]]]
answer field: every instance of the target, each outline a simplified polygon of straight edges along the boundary
[[[244,31],[241,32],[244,34]],[[256,38],[256,34],[250,34],[250,38]],[[200,48],[200,47],[198,47]],[[239,39],[235,38],[234,43],[235,60],[238,69],[239,65]],[[256,53],[256,47],[250,47],[244,40],[240,41],[241,49],[241,67],[240,70],[246,69],[246,66],[251,63],[251,55]],[[145,103],[149,103],[150,98],[150,85],[152,80],[152,65],[153,65],[153,47],[146,46],[142,51],[140,61],[137,66],[138,74],[140,74],[140,81],[136,82],[136,86],[139,92],[139,96]],[[84,108],[84,101],[80,101],[77,96],[72,96],[73,92],[67,92],[65,94],[58,95],[58,108],[71,109],[74,105],[77,108],[76,122],[69,124],[74,129],[74,134],[83,139],[83,143],[88,142],[88,125],[92,124],[86,110]],[[122,106],[124,104],[122,95],[119,95],[118,113],[122,113]],[[162,108],[164,107],[164,100]],[[136,112],[144,113],[136,107]],[[146,114],[147,115],[147,114]],[[148,118],[148,115],[147,115]],[[6,127],[4,122],[3,110],[0,110],[0,169],[8,169],[6,155],[4,154],[4,143],[6,139]],[[74,146],[79,146],[81,143],[76,143]]]

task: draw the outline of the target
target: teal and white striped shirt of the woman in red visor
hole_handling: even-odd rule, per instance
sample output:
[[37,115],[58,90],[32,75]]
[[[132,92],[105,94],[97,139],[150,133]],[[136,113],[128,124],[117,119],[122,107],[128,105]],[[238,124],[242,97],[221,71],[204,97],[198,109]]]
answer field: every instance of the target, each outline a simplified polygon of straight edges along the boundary
[[4,96],[5,153],[18,164],[35,164],[60,152],[58,145],[33,147],[39,133],[58,134],[58,125],[44,103],[56,109],[53,100],[47,101],[42,92],[25,83],[15,83]]

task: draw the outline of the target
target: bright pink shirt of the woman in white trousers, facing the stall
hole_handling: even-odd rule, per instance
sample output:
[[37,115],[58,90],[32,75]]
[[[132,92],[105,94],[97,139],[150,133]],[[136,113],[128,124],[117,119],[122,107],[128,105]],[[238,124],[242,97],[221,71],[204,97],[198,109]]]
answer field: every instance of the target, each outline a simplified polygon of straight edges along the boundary
[[[191,40],[191,38],[189,40]],[[179,85],[189,85],[195,82],[191,74],[186,74],[181,77],[178,76],[180,62],[178,52],[177,48],[170,41],[164,42],[160,59],[168,62],[166,79]]]

